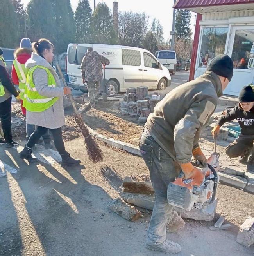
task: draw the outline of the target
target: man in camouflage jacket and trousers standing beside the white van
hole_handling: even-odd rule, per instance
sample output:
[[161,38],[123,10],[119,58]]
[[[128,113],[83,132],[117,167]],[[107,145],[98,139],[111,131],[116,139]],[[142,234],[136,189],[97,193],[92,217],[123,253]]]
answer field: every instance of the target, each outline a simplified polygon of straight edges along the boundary
[[109,65],[109,59],[99,55],[97,51],[93,51],[92,47],[88,47],[81,63],[81,72],[83,84],[87,82],[88,98],[91,107],[95,107],[98,102],[100,93],[100,81],[102,80],[102,64]]

